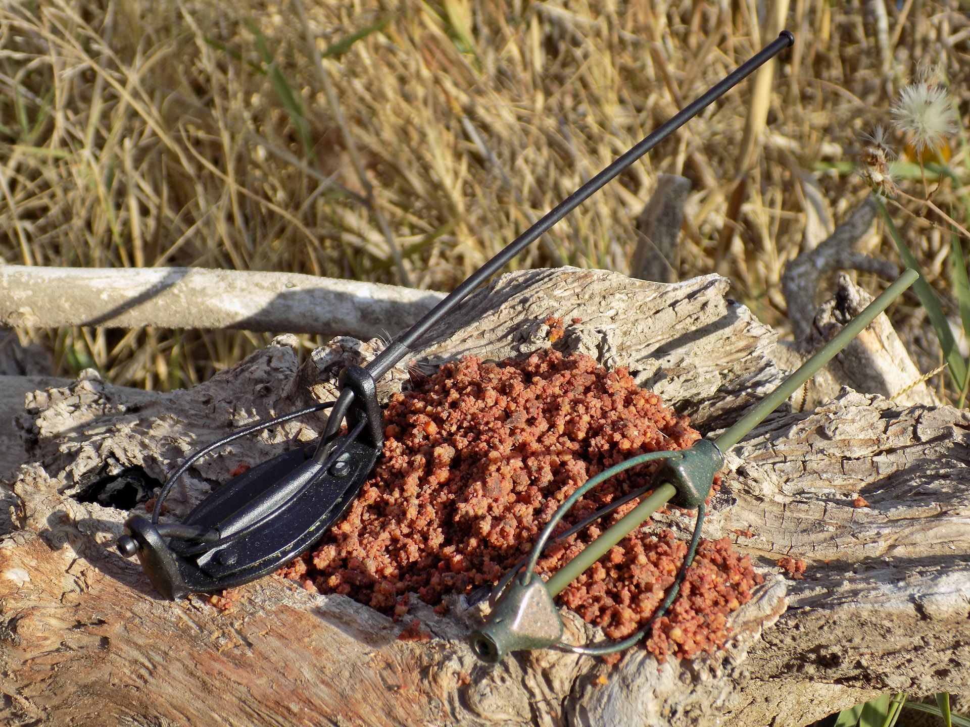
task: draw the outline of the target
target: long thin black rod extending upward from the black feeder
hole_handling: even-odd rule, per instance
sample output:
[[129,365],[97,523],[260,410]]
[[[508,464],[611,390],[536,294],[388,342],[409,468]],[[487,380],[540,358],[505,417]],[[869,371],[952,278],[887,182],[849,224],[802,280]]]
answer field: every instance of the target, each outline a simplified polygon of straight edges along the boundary
[[[677,111],[673,116],[663,122],[653,133],[645,137],[640,142],[630,147],[621,156],[617,157],[608,167],[599,172],[596,176],[583,184],[579,189],[566,197],[563,202],[556,205],[541,219],[536,221],[532,227],[519,237],[516,237],[503,247],[491,260],[481,268],[475,270],[469,277],[455,290],[449,293],[443,300],[438,302],[434,308],[429,310],[421,320],[411,328],[401,334],[387,348],[380,352],[365,369],[370,373],[374,380],[379,379],[410,352],[411,347],[431,329],[442,317],[450,313],[456,305],[469,297],[478,287],[488,280],[496,272],[504,268],[516,255],[531,245],[538,237],[545,233],[549,228],[559,222],[569,212],[577,206],[582,205],[586,200],[596,194],[607,182],[618,174],[622,173],[633,162],[646,154],[660,142],[663,142],[670,134],[675,132],[696,114],[707,106],[724,96],[727,91],[754,73],[761,65],[777,55],[786,47],[791,47],[794,43],[794,36],[788,30],[783,30],[774,41],[763,47],[731,71],[724,79],[711,86],[706,92],[698,96],[693,102]],[[322,461],[330,454],[333,446],[333,438],[337,433],[343,418],[346,416],[350,405],[353,403],[354,393],[344,387],[340,391],[334,411],[327,423],[327,428],[320,439],[314,458]]]

